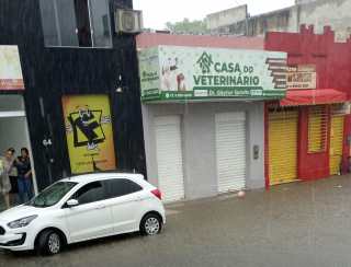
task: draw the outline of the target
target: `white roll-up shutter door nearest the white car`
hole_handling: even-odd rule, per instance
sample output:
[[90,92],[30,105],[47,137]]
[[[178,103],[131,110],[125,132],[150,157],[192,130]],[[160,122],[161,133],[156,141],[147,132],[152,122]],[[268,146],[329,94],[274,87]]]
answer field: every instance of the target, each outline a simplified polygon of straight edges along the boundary
[[180,116],[155,117],[159,188],[165,202],[184,198]]

